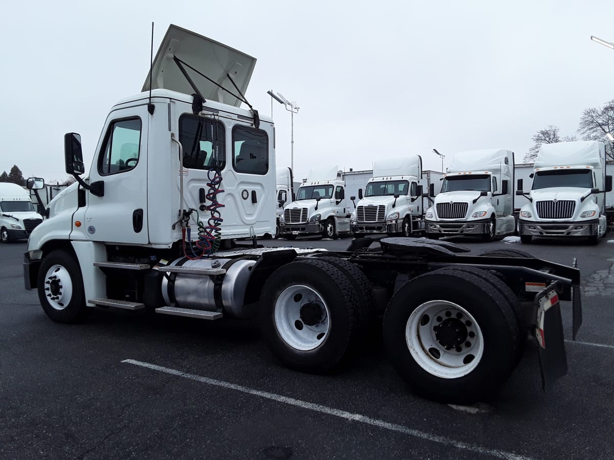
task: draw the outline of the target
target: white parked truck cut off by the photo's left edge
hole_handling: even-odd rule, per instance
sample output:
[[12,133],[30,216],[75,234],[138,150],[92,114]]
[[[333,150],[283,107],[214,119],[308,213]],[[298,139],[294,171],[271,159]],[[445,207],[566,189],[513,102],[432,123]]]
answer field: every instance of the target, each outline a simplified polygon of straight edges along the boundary
[[[42,185],[41,185],[42,186]],[[0,241],[26,239],[42,222],[28,190],[15,183],[0,182]]]

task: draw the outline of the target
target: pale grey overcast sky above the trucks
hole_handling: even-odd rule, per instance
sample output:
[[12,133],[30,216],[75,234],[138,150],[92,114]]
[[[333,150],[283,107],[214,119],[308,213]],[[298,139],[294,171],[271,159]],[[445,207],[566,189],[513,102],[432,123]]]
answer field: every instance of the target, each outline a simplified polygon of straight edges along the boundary
[[[170,23],[257,58],[246,97],[300,107],[295,177],[313,164],[509,148],[519,162],[546,125],[574,134],[614,98],[614,1],[8,2],[2,43],[0,172],[66,177],[64,132],[91,163],[112,105],[136,94]],[[290,165],[290,113],[273,105],[277,164]],[[449,156],[445,159],[448,165]]]

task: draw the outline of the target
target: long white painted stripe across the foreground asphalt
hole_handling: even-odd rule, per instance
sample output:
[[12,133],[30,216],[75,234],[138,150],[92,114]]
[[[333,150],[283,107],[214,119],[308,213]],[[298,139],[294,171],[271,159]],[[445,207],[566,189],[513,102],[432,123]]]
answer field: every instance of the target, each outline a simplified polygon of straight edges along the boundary
[[437,442],[440,444],[449,445],[449,446],[456,447],[459,449],[473,451],[478,454],[491,455],[497,458],[505,458],[505,459],[513,459],[513,460],[529,459],[529,457],[516,455],[511,452],[506,452],[502,450],[492,450],[492,449],[481,447],[475,444],[459,442],[454,439],[449,439],[449,438],[438,436],[435,434],[429,434],[423,431],[418,431],[416,429],[408,428],[403,425],[397,425],[395,423],[388,423],[386,421],[379,420],[377,418],[371,418],[365,415],[360,415],[358,413],[347,412],[345,410],[335,409],[333,407],[327,407],[325,405],[314,404],[313,402],[301,401],[300,399],[294,399],[292,397],[282,396],[281,394],[269,393],[268,391],[260,391],[258,389],[249,388],[248,386],[236,385],[236,383],[230,383],[230,382],[223,381],[223,380],[216,380],[214,378],[201,377],[200,375],[195,375],[195,374],[188,374],[187,372],[182,372],[181,370],[169,369],[169,367],[157,366],[156,364],[150,364],[149,362],[135,361],[134,359],[124,359],[122,362],[126,362],[127,364],[134,364],[134,366],[146,367],[147,369],[157,370],[158,372],[165,372],[166,374],[176,375],[177,377],[188,378],[189,380],[200,381],[201,383],[206,383],[207,385],[220,386],[222,388],[233,389],[235,391],[241,391],[241,393],[252,394],[254,396],[271,399],[276,402],[282,402],[284,404],[293,405],[293,406],[300,407],[303,409],[313,410],[314,412],[321,412],[326,415],[333,415],[336,417],[344,418],[345,420],[365,423],[371,426],[376,426],[378,428],[387,429],[389,431],[399,432],[402,434],[410,435],[410,436],[424,439],[427,441]]

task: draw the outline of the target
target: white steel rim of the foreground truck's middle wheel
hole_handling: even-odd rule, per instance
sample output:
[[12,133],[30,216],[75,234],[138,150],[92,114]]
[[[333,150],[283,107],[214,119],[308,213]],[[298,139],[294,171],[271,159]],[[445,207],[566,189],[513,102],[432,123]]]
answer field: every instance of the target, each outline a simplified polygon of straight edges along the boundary
[[330,330],[330,312],[316,289],[289,286],[274,307],[275,326],[284,342],[300,351],[311,351],[324,343]]

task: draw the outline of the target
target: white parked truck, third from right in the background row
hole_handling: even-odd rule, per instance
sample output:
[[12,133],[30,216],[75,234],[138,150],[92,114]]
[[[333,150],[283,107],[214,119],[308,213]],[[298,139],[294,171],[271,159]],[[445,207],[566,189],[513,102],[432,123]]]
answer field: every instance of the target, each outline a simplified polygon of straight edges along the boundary
[[370,233],[411,236],[424,230],[422,158],[406,155],[373,164],[373,178],[352,213],[354,236]]

